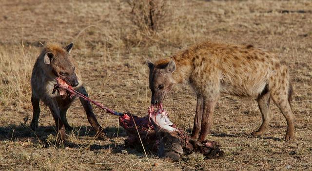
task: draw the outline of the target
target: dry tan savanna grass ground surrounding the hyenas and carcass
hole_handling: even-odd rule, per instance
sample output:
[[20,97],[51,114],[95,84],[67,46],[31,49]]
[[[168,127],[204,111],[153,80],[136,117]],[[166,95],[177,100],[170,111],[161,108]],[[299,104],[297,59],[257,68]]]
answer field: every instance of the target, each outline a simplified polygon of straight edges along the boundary
[[[130,12],[122,0],[0,1],[0,170],[312,170],[311,0],[166,1],[155,28],[144,25],[144,15]],[[107,138],[95,138],[78,101],[67,115],[77,131],[67,132],[64,144],[56,141],[44,105],[38,130],[29,129],[30,75],[42,44],[74,42],[73,58],[90,97],[144,116],[151,96],[145,60],[203,40],[253,44],[279,54],[295,89],[296,139],[282,139],[286,121],[275,105],[265,134],[251,137],[261,124],[257,103],[225,94],[207,137],[221,144],[226,155],[220,159],[192,154],[171,162],[148,154],[151,168],[143,153],[124,147],[117,117],[96,107]],[[177,86],[164,105],[171,120],[190,132],[195,103],[190,87]]]

